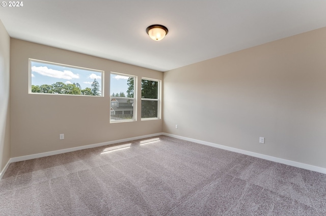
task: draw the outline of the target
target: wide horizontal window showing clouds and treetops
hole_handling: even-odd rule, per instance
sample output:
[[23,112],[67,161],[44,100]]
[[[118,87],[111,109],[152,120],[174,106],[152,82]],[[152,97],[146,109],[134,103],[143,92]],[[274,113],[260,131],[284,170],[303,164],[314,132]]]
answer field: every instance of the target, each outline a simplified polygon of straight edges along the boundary
[[30,59],[31,94],[103,96],[103,71]]

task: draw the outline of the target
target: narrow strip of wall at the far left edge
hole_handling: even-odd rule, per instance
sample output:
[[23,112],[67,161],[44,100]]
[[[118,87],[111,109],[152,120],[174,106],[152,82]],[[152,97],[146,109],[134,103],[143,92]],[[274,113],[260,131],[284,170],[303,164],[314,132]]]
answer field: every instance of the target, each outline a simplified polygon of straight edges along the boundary
[[0,173],[10,159],[10,37],[0,20]]

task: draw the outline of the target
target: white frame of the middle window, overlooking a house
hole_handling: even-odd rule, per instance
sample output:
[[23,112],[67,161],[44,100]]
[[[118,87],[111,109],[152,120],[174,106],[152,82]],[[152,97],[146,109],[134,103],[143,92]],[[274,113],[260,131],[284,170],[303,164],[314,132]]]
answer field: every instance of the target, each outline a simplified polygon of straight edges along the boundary
[[[116,72],[111,72],[110,73],[110,86],[111,86],[111,75],[116,74],[116,75],[121,75],[121,76],[128,76],[133,78],[133,98],[125,98],[125,97],[112,97],[111,94],[111,89],[110,89],[110,123],[119,123],[119,122],[130,122],[130,121],[137,121],[137,76],[130,75],[130,74],[123,74],[123,73],[116,73]],[[111,99],[132,99],[133,100],[133,118],[132,119],[120,119],[120,120],[115,120],[111,119]],[[115,104],[115,107],[117,104]]]

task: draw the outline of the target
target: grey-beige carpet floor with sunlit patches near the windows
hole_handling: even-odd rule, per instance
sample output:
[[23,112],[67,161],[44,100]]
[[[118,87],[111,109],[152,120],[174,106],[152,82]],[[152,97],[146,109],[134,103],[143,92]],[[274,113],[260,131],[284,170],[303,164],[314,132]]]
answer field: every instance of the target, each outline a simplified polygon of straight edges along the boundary
[[168,136],[11,163],[0,215],[325,215],[326,175]]

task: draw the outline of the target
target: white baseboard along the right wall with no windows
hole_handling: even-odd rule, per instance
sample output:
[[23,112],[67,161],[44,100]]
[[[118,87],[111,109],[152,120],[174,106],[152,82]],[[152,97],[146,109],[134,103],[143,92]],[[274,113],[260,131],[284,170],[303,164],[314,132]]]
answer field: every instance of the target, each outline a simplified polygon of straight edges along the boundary
[[228,147],[228,146],[225,146],[225,145],[220,145],[220,144],[201,141],[201,140],[197,140],[197,139],[182,137],[182,136],[178,136],[178,135],[173,135],[173,134],[168,134],[168,133],[162,133],[162,135],[177,138],[177,139],[182,139],[182,140],[186,140],[186,141],[196,142],[196,143],[203,144],[203,145],[209,145],[209,146],[212,146],[212,147],[215,147],[215,148],[221,148],[221,149],[241,153],[243,155],[249,155],[249,156],[253,156],[253,157],[256,157],[256,158],[265,159],[265,160],[268,160],[268,161],[273,161],[273,162],[277,162],[277,163],[281,163],[281,164],[285,164],[285,165],[289,165],[289,166],[293,166],[293,167],[303,168],[303,169],[307,169],[307,170],[311,170],[311,171],[326,174],[326,168],[322,168],[322,167],[317,167],[317,166],[313,166],[313,165],[309,165],[309,164],[303,164],[303,163],[299,163],[299,162],[295,162],[295,161],[289,161],[289,160],[286,160],[286,159],[281,159],[281,158],[276,158],[276,157],[272,157],[272,156],[262,155],[260,153],[255,153],[255,152],[252,152],[252,151],[246,151],[246,150],[242,150],[242,149],[238,149],[238,148]]

